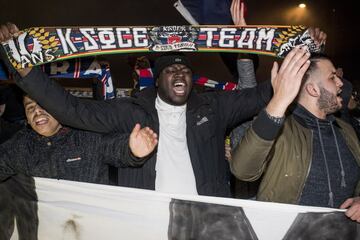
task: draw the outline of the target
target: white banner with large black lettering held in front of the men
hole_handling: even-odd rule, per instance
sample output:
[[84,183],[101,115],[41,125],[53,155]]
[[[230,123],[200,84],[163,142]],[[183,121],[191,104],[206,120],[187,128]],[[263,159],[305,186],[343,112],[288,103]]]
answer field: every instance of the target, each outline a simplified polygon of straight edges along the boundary
[[[41,240],[360,239],[359,224],[337,209],[170,195],[43,178],[35,178],[35,189]],[[37,225],[36,217],[15,215],[17,227],[11,239],[20,239],[21,234],[23,239],[33,239],[29,231],[36,234],[31,227]],[[26,221],[21,219],[24,216]]]

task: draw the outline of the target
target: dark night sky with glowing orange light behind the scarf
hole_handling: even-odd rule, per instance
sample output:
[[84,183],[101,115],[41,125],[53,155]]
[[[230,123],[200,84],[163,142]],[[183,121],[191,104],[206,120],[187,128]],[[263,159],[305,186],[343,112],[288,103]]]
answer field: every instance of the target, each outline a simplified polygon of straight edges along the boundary
[[[301,1],[245,1],[249,25],[303,24],[323,29],[328,34],[326,53],[333,58],[336,66],[344,69],[346,78],[359,85],[356,72],[359,67],[359,41],[356,32],[360,21],[355,1],[304,1],[307,8],[302,13],[297,8]],[[188,25],[173,7],[174,2],[175,0],[0,0],[0,22],[14,22],[20,29],[35,26]],[[217,53],[189,55],[197,73],[217,81],[232,80]],[[115,85],[132,87],[128,55],[105,57],[111,64]],[[261,56],[258,79],[270,77],[272,61],[272,57]]]

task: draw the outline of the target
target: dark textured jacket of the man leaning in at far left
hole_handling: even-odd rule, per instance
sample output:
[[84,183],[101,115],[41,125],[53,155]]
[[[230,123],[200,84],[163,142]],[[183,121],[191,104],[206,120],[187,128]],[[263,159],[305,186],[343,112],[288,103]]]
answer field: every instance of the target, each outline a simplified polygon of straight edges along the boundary
[[108,184],[108,165],[138,166],[128,135],[98,134],[62,128],[44,137],[29,128],[0,145],[0,182],[22,173],[28,176]]

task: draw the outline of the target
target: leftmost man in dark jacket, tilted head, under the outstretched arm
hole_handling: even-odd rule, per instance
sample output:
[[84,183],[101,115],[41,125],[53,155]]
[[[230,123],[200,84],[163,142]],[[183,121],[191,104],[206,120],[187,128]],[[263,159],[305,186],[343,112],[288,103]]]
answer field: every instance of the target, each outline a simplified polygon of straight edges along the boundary
[[0,182],[12,175],[108,184],[108,165],[139,167],[157,135],[136,125],[128,134],[98,134],[63,127],[30,97],[24,97],[30,128],[0,145]]

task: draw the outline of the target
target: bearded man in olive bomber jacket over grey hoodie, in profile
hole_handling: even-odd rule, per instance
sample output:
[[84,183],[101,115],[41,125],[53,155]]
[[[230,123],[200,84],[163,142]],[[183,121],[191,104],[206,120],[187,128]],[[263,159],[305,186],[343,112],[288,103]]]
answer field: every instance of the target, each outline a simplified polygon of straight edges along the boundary
[[241,180],[264,175],[258,200],[350,207],[346,215],[360,222],[360,198],[353,198],[359,196],[359,140],[348,123],[333,116],[342,106],[342,86],[331,60],[312,56],[286,120],[286,95],[276,105],[274,95],[259,114],[231,161]]

